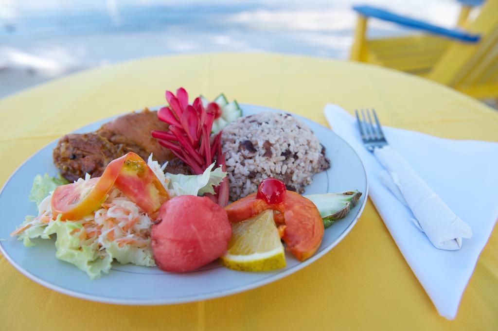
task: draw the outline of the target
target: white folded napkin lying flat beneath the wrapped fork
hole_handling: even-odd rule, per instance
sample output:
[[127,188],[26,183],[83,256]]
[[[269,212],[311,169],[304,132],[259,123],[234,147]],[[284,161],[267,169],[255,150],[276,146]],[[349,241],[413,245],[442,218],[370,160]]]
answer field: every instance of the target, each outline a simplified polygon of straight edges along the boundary
[[[472,239],[463,239],[461,249],[436,249],[410,221],[414,218],[410,209],[383,184],[385,169],[363,146],[356,119],[335,105],[327,105],[324,112],[333,131],[362,159],[369,180],[369,197],[413,273],[439,314],[454,319],[479,254],[498,218],[498,143],[449,140],[382,127],[389,145],[472,228]],[[334,160],[331,161],[333,165]]]

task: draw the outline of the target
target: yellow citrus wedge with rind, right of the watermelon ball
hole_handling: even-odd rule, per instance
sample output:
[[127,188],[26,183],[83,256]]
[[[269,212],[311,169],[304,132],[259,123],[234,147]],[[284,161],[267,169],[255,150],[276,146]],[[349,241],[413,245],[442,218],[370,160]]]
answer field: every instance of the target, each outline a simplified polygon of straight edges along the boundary
[[240,271],[268,271],[285,267],[285,254],[273,211],[232,224],[232,238],[221,256],[227,268]]

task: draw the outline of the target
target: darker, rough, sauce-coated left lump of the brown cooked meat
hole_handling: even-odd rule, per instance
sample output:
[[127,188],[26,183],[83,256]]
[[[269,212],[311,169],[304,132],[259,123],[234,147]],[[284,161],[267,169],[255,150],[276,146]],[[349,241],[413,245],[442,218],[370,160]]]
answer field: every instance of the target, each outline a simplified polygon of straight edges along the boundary
[[67,134],[54,148],[54,164],[65,179],[75,181],[85,177],[102,175],[106,166],[124,152],[115,144],[96,133]]

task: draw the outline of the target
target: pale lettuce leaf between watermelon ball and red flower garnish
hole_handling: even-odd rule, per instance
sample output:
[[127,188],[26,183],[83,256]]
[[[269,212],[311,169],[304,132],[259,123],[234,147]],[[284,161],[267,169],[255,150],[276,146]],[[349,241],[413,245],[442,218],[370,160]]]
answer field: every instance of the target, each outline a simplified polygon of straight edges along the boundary
[[214,188],[222,182],[227,173],[222,171],[221,167],[211,171],[215,163],[211,164],[201,175],[173,175],[166,173],[168,183],[168,192],[173,196],[183,195],[204,195],[206,193],[214,194]]

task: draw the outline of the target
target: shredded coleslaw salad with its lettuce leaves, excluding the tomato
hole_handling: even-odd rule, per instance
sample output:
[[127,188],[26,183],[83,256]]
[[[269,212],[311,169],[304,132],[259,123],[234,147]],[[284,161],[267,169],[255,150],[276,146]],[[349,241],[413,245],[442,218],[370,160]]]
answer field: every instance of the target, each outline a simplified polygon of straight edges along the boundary
[[[211,172],[214,164],[202,175],[186,176],[165,174],[164,168],[149,156],[148,166],[170,197],[183,194],[197,195],[213,191],[226,176],[221,167]],[[77,182],[90,179],[80,178]],[[47,194],[61,185],[60,179],[39,176],[30,196]],[[133,263],[140,266],[155,266],[150,242],[152,221],[149,216],[124,194],[114,188],[97,211],[80,220],[61,221],[51,211],[53,191],[38,204],[38,215],[28,216],[11,235],[16,235],[25,246],[34,246],[33,238],[50,239],[56,234],[56,257],[76,265],[91,279],[108,273],[113,260],[122,264]],[[85,193],[83,193],[85,194]]]

